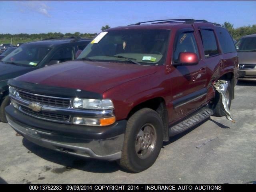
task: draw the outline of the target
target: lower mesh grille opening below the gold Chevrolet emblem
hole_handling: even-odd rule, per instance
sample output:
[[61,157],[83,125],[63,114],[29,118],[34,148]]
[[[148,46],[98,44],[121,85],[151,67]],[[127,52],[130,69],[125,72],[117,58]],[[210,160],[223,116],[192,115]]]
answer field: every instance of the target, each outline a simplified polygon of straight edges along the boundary
[[68,122],[70,116],[69,115],[60,115],[60,114],[54,114],[54,113],[48,113],[48,112],[35,112],[30,108],[27,108],[25,106],[20,106],[20,110],[26,114],[29,114],[31,116],[48,119],[48,120],[55,120],[55,121],[62,121],[62,122]]

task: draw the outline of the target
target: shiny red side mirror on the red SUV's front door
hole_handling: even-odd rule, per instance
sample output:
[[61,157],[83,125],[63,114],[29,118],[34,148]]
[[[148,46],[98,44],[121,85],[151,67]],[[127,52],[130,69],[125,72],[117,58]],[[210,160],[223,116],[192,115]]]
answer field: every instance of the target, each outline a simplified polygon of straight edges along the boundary
[[198,56],[192,52],[181,52],[179,54],[178,62],[174,63],[174,66],[178,65],[196,65],[198,64]]

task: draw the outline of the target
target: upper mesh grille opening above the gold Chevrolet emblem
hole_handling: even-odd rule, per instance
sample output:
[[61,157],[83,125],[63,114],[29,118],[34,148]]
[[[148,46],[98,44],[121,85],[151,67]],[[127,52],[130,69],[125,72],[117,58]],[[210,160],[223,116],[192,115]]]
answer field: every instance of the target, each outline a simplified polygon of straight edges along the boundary
[[55,107],[64,107],[68,108],[70,106],[70,99],[65,98],[55,98],[50,96],[42,96],[36,94],[30,94],[28,92],[18,91],[20,98],[29,101],[29,102],[36,102],[42,105],[47,106],[55,106]]

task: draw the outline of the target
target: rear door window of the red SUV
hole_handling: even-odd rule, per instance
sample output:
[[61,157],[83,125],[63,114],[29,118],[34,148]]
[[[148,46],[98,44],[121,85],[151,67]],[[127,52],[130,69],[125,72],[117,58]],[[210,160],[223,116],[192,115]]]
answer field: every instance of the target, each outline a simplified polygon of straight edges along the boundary
[[204,46],[204,56],[210,57],[218,54],[218,48],[214,32],[212,30],[201,29],[202,42]]

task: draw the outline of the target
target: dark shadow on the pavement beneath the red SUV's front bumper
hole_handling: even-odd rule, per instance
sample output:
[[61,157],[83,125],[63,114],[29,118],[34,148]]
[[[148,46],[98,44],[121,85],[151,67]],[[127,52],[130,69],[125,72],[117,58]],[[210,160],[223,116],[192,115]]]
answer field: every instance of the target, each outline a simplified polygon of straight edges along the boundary
[[126,170],[118,166],[116,161],[103,161],[77,157],[71,154],[65,154],[62,152],[38,146],[30,142],[26,138],[23,138],[22,143],[29,150],[28,153],[34,153],[47,161],[54,162],[56,164],[64,166],[63,168],[55,169],[52,169],[50,166],[47,166],[48,169],[51,170],[51,172],[53,173],[59,174],[62,172],[69,171],[70,169],[78,169],[94,173],[112,173],[118,170],[127,172]]

